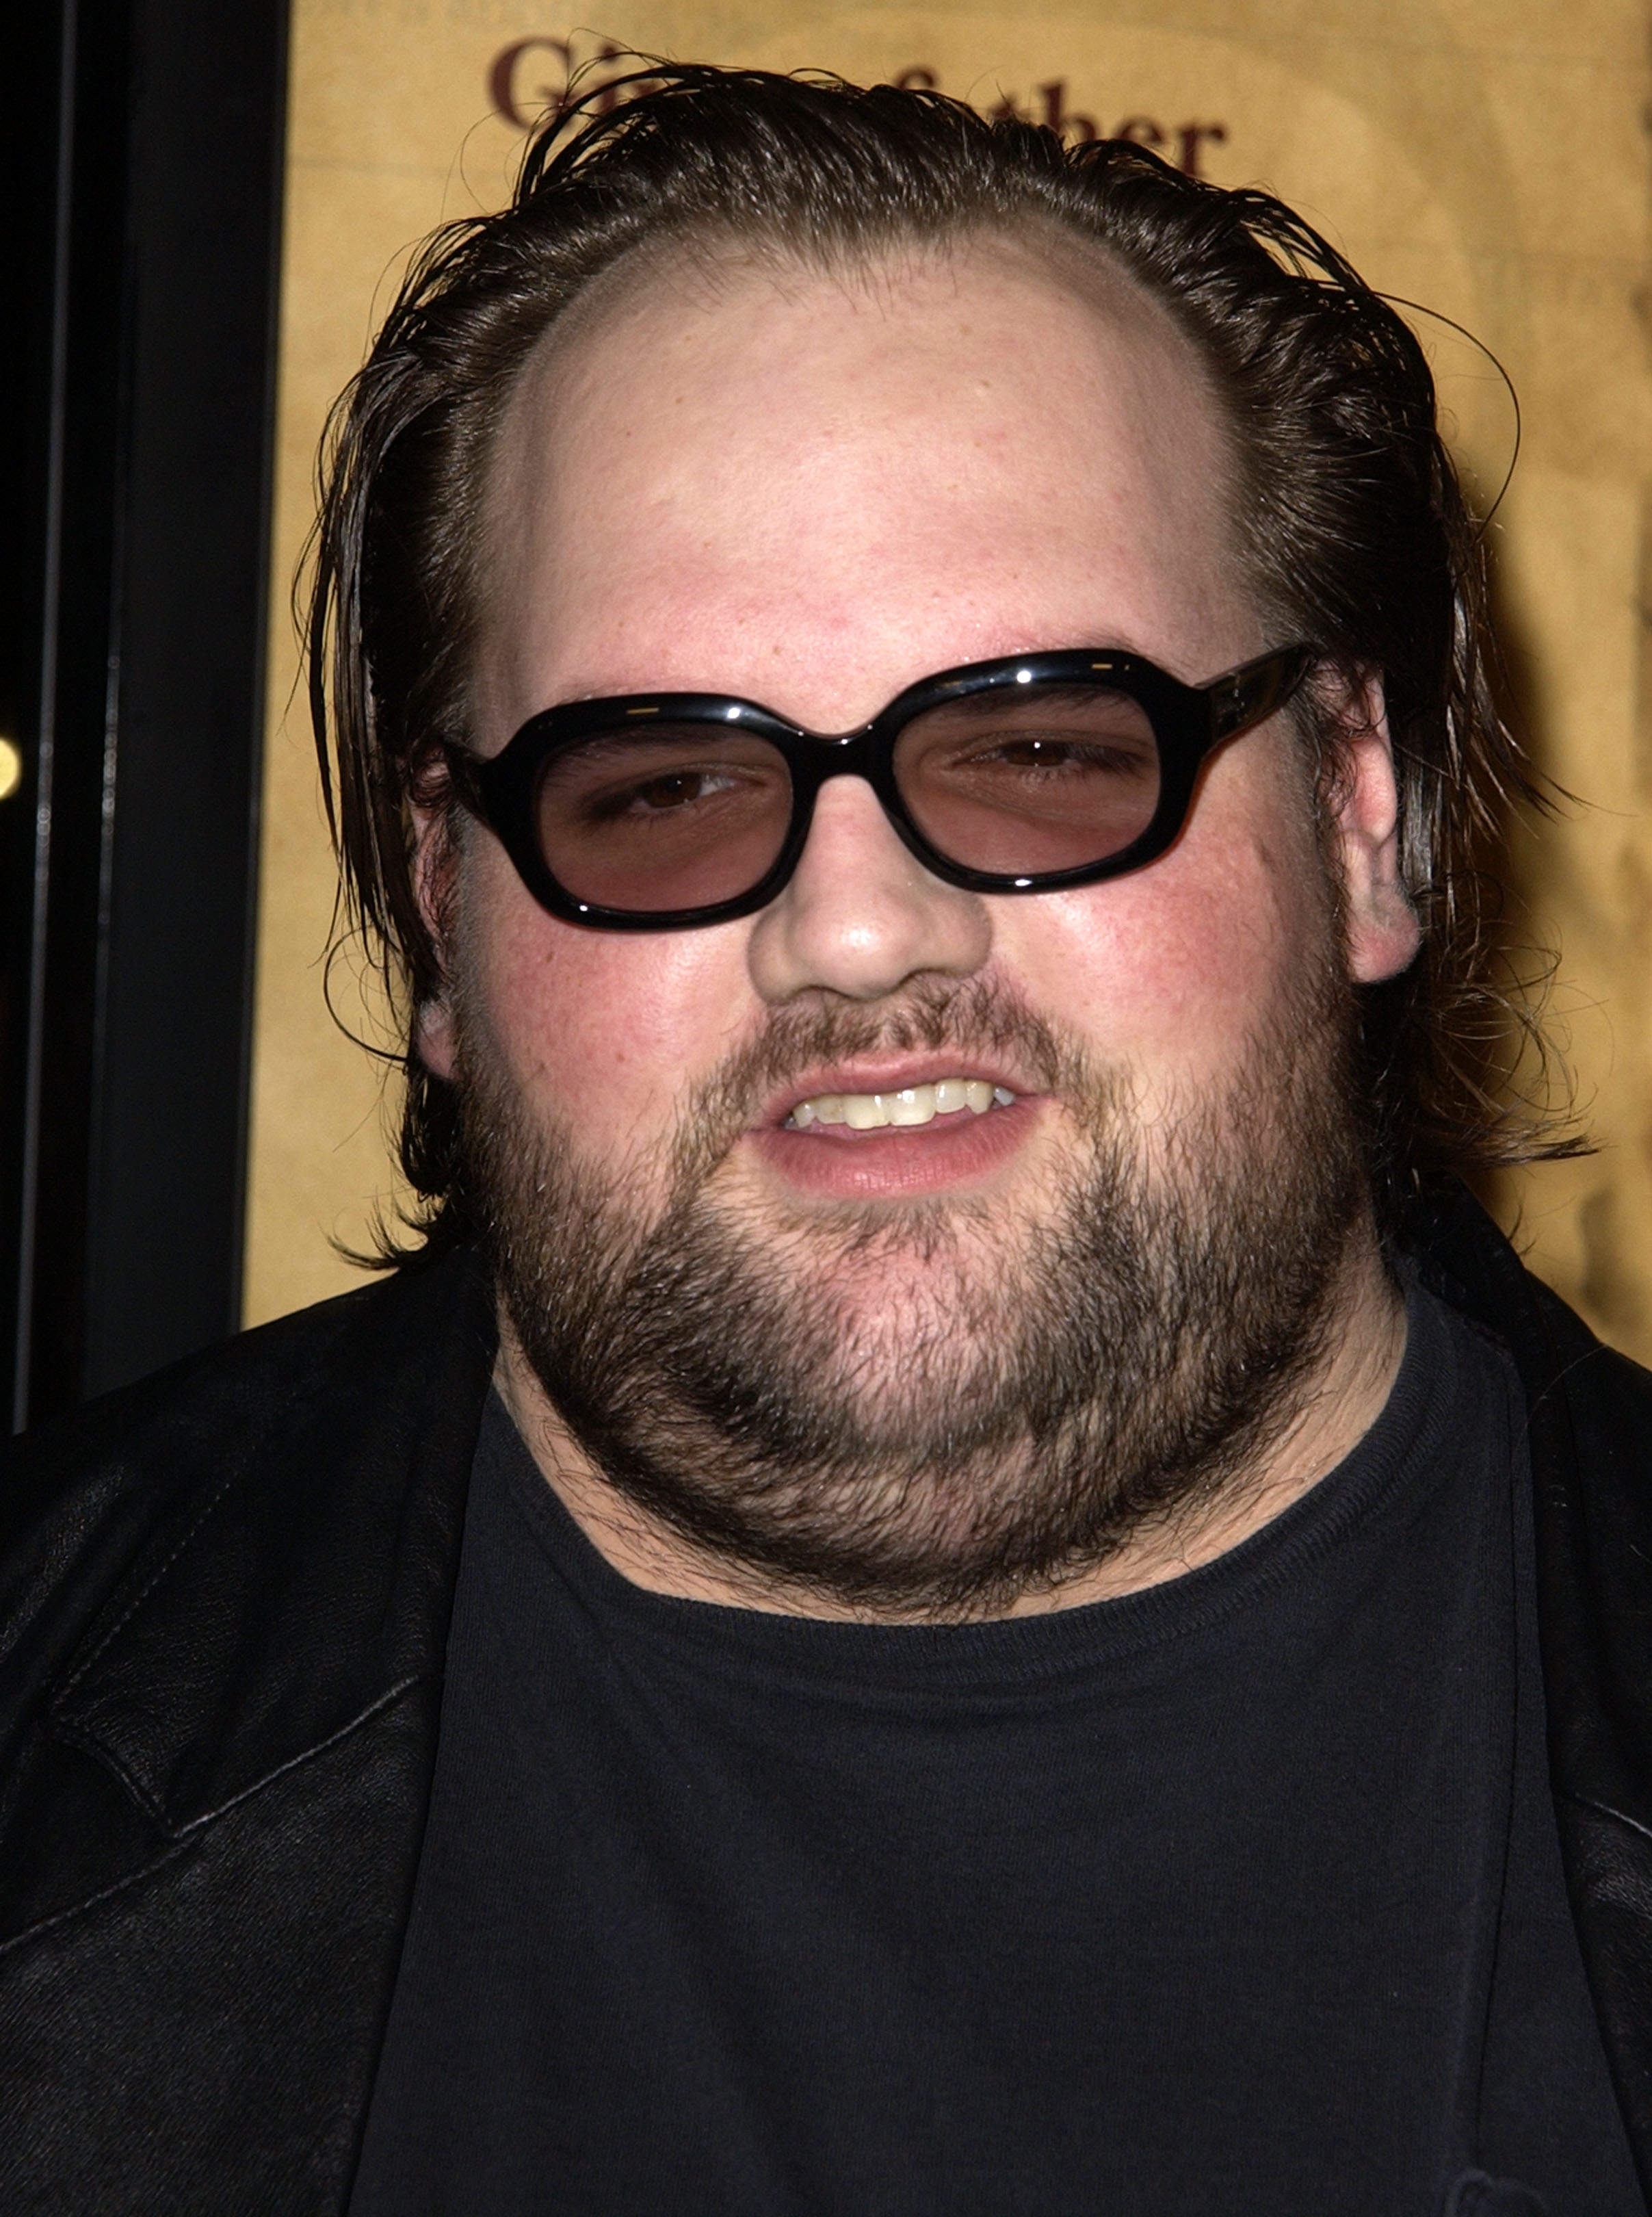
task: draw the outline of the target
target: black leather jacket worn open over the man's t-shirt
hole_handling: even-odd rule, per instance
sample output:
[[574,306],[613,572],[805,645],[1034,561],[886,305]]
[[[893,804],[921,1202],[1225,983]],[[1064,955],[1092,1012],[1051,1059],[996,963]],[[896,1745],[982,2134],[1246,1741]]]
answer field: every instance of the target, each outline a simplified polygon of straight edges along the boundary
[[[1554,1805],[1652,2186],[1652,1375],[1470,1202],[1415,1244],[1526,1383]],[[7,2213],[346,2206],[492,1352],[455,1255],[9,1450]]]

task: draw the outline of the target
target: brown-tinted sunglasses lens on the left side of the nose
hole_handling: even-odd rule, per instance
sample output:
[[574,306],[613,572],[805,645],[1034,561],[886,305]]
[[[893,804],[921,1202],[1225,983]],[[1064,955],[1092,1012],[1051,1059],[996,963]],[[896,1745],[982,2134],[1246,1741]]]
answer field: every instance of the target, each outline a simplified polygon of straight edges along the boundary
[[785,756],[712,723],[605,732],[545,760],[539,851],[605,909],[710,909],[774,867],[792,823]]

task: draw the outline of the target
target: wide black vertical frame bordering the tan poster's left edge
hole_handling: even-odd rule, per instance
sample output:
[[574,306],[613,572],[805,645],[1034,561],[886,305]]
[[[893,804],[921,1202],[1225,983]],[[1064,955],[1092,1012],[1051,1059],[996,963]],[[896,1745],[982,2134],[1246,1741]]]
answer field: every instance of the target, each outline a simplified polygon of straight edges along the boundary
[[106,1069],[82,1392],[239,1326],[286,0],[135,0]]

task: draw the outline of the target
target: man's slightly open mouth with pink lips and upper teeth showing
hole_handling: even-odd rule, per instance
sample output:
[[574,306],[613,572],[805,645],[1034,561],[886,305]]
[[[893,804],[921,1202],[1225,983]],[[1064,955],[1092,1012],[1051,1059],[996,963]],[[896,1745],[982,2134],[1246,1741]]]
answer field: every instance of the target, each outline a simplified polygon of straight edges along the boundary
[[907,1055],[803,1073],[749,1140],[787,1186],[907,1199],[989,1177],[1020,1151],[1038,1104],[1016,1071]]

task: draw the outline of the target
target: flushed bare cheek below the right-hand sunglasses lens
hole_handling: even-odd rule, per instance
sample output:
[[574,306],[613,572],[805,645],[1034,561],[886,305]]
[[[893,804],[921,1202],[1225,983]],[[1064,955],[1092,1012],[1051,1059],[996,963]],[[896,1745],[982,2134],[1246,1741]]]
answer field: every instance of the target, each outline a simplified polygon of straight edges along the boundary
[[1146,1111],[1235,1071],[1330,931],[1308,805],[1255,778],[1211,776],[1135,876],[996,907],[1031,1004],[1126,1069]]

